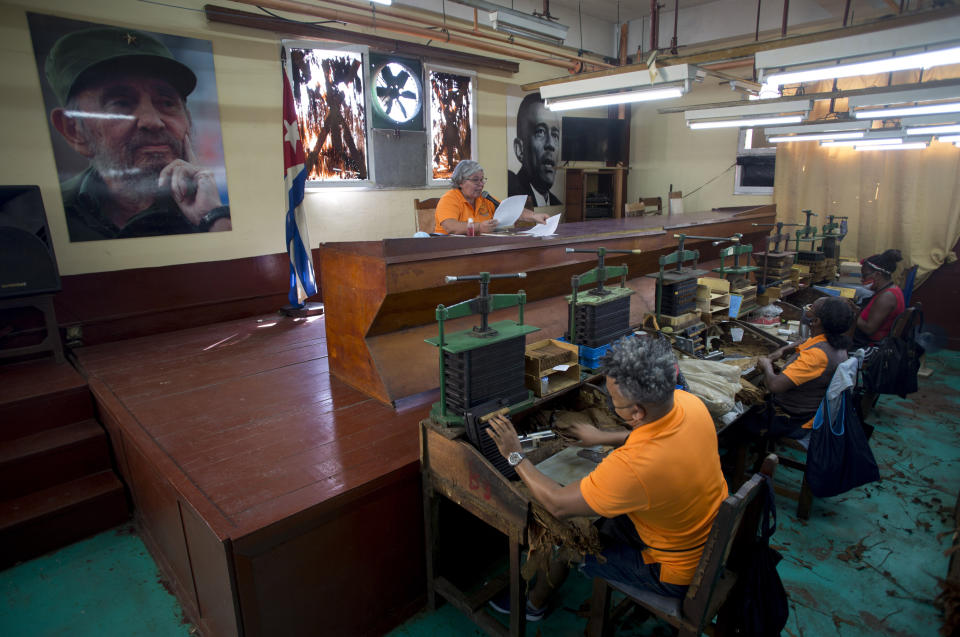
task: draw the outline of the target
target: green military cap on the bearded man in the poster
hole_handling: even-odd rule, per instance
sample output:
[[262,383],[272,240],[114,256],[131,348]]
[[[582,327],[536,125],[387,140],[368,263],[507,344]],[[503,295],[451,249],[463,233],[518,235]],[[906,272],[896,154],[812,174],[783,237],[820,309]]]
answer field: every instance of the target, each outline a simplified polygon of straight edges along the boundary
[[190,67],[160,40],[142,31],[97,27],[68,33],[47,55],[45,71],[61,104],[97,71],[132,71],[161,77],[186,98],[197,85]]

